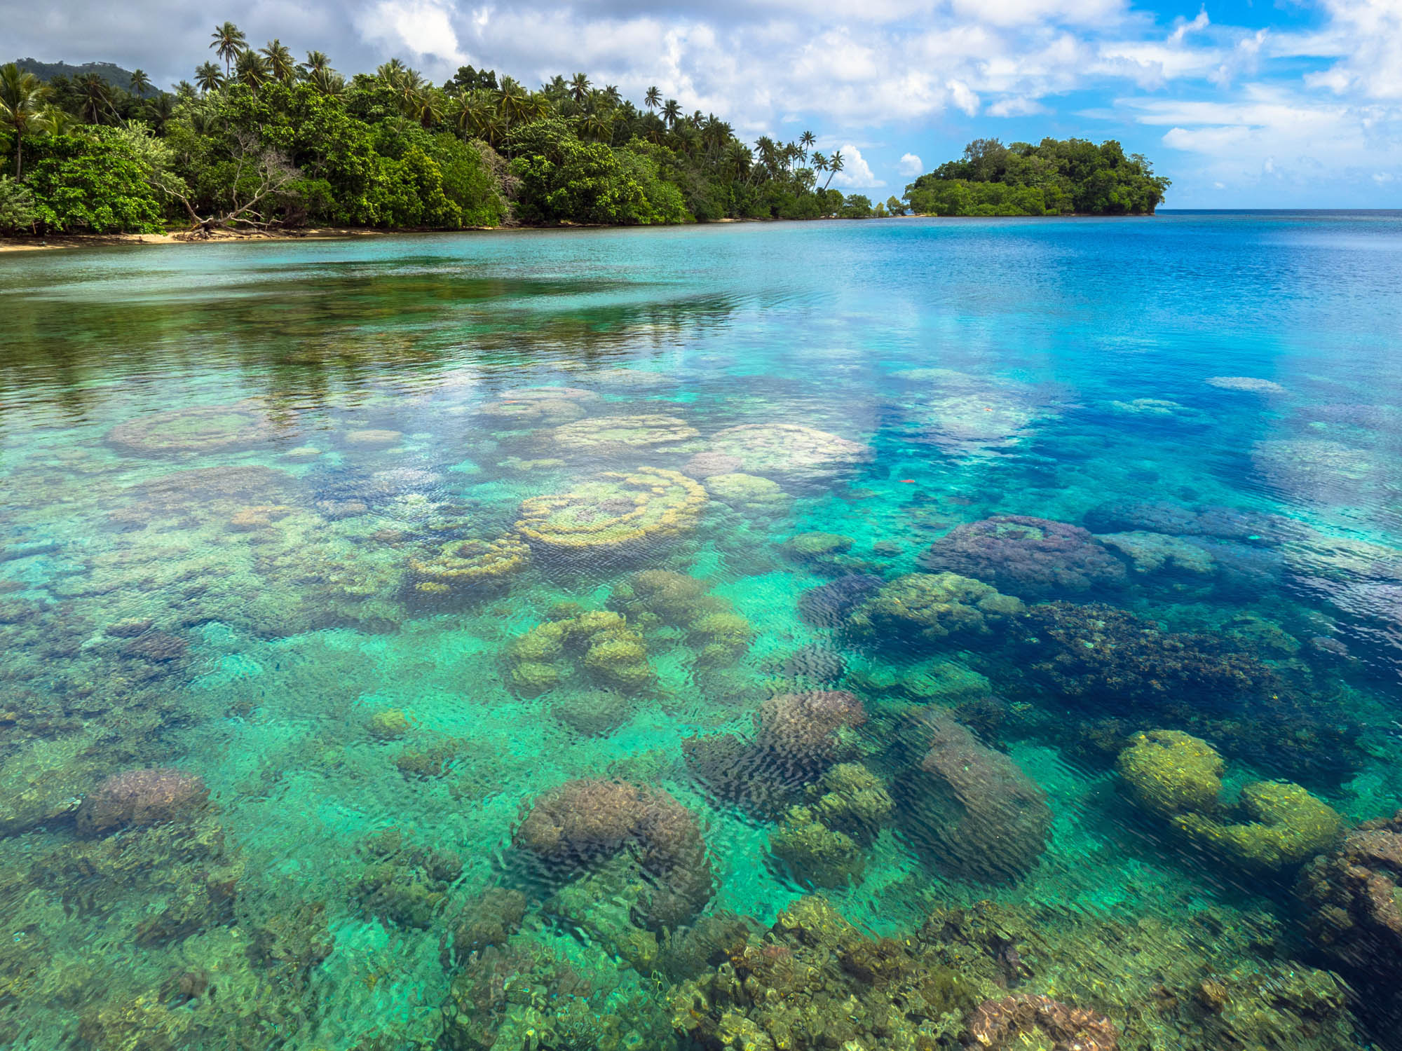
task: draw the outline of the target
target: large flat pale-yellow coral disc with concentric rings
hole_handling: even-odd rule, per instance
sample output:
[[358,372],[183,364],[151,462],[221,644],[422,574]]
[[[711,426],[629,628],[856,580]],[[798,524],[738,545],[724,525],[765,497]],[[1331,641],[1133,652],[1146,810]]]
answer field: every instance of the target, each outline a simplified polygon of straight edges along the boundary
[[568,493],[522,502],[516,528],[533,547],[590,559],[642,554],[693,530],[705,489],[676,471],[607,472]]

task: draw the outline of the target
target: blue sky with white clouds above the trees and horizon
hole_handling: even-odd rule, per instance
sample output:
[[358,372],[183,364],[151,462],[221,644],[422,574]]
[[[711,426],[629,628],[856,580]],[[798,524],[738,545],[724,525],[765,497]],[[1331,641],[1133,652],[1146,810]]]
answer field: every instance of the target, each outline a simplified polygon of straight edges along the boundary
[[18,56],[189,77],[215,21],[318,48],[527,83],[648,85],[742,137],[843,149],[834,185],[885,198],[973,137],[1119,139],[1168,207],[1402,207],[1402,0],[0,0]]

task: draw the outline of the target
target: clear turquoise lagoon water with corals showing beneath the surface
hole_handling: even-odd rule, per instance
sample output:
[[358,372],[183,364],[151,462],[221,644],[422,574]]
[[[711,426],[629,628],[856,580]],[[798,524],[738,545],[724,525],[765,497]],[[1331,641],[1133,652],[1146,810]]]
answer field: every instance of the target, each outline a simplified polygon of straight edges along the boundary
[[0,1045],[1399,1045],[1402,216],[0,293]]

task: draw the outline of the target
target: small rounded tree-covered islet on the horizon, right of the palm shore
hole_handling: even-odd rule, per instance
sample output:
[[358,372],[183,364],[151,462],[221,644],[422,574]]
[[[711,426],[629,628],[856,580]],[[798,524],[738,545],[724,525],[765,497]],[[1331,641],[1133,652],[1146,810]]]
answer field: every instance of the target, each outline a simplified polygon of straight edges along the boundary
[[962,158],[906,186],[906,200],[927,216],[1140,216],[1154,214],[1168,186],[1113,139],[976,139]]

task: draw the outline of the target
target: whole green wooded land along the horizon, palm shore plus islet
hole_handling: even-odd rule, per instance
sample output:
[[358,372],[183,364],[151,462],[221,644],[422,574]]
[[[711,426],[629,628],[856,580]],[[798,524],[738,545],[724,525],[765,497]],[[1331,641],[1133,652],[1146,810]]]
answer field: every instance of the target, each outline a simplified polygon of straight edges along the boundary
[[873,205],[831,188],[843,154],[813,150],[812,132],[751,147],[655,87],[637,105],[583,73],[531,91],[472,66],[432,84],[397,59],[343,77],[231,22],[210,50],[174,91],[111,63],[0,67],[0,231],[1152,214],[1168,186],[1113,140],[980,139]]

